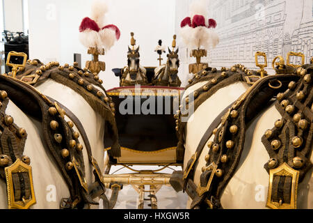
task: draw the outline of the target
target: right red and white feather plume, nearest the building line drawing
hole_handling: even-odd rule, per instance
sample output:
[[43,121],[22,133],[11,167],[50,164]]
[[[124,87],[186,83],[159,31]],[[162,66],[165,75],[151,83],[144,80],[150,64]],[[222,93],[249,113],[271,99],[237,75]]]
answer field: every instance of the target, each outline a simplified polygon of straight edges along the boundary
[[219,43],[218,34],[214,31],[216,21],[208,17],[207,1],[193,1],[190,6],[190,17],[182,20],[181,36],[189,49],[214,48]]

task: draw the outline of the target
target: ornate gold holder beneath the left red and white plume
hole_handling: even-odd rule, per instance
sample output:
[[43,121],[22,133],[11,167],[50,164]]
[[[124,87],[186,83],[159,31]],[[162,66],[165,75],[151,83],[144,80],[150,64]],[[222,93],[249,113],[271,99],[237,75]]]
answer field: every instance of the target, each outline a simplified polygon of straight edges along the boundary
[[93,73],[99,74],[100,71],[106,70],[106,63],[104,61],[99,61],[99,55],[104,55],[104,49],[99,52],[97,47],[89,47],[88,54],[93,55],[92,61],[86,61],[85,68]]

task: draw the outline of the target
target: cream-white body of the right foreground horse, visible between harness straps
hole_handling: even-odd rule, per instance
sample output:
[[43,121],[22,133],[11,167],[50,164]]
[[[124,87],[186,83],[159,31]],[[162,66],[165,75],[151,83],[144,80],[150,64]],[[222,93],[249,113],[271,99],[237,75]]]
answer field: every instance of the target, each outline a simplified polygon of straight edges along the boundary
[[[209,82],[200,81],[191,85],[186,89],[183,98],[186,98],[187,95],[207,85]],[[202,102],[198,109],[191,115],[185,129],[182,130],[185,137],[184,170],[186,170],[188,160],[195,153],[204,132],[206,132],[216,116],[249,88],[250,86],[243,81],[236,81],[233,84],[224,86]],[[275,109],[275,105],[271,105],[271,107],[268,107],[268,109],[255,116],[250,125],[248,125],[239,164],[234,172],[234,176],[232,176],[220,197],[220,203],[223,208],[266,208],[269,175],[264,169],[264,164],[268,162],[270,157],[261,139],[264,136],[264,132],[273,128],[275,121],[280,118],[282,117],[277,109]],[[214,134],[206,142],[198,158],[198,164],[192,179],[197,186],[200,183],[202,167],[207,165],[205,161],[205,156],[209,153],[207,144],[209,141],[213,141],[213,139]],[[310,160],[313,162],[312,155]],[[311,168],[303,181],[298,185],[298,208],[313,208],[312,187],[313,178]],[[191,199],[187,203],[187,207],[190,206]]]

